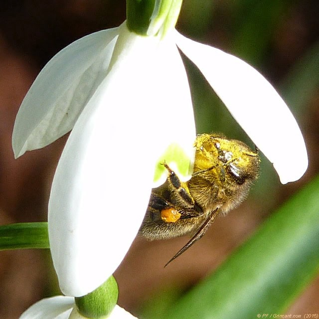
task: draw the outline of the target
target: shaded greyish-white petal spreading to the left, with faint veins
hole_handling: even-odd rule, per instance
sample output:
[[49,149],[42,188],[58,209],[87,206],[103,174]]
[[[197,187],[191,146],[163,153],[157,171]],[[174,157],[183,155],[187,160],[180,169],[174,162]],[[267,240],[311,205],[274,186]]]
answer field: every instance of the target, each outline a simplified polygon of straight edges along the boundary
[[17,113],[15,157],[69,132],[106,75],[118,28],[87,35],[57,53],[36,77]]

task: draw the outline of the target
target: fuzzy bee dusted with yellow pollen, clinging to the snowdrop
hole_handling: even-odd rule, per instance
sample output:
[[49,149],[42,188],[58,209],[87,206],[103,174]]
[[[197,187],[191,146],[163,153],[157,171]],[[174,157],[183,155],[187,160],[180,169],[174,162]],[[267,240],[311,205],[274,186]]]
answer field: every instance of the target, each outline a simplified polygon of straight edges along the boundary
[[226,214],[247,196],[259,173],[258,150],[221,135],[201,134],[194,143],[191,178],[182,182],[168,171],[164,184],[153,188],[139,235],[148,240],[191,235],[165,265],[200,239],[219,214]]

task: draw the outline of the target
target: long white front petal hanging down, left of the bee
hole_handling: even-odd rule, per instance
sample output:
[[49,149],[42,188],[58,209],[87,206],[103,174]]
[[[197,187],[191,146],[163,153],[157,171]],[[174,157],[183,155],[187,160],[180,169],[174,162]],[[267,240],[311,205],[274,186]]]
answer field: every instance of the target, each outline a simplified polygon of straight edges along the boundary
[[147,208],[157,127],[140,87],[150,65],[141,69],[140,58],[128,54],[115,63],[76,122],[54,176],[49,238],[65,295],[85,295],[115,271]]

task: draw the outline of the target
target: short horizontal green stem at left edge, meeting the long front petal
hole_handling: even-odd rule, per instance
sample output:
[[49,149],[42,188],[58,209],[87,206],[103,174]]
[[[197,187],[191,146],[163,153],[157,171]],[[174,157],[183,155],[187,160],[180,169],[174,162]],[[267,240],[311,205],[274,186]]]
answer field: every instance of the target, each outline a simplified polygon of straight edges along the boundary
[[16,223],[0,226],[0,250],[50,248],[48,223]]

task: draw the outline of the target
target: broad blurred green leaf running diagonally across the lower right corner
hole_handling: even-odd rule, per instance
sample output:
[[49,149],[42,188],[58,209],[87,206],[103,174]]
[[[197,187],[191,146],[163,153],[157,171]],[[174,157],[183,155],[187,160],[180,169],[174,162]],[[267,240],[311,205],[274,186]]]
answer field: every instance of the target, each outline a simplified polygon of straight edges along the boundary
[[162,317],[249,319],[283,313],[319,271],[319,176]]

